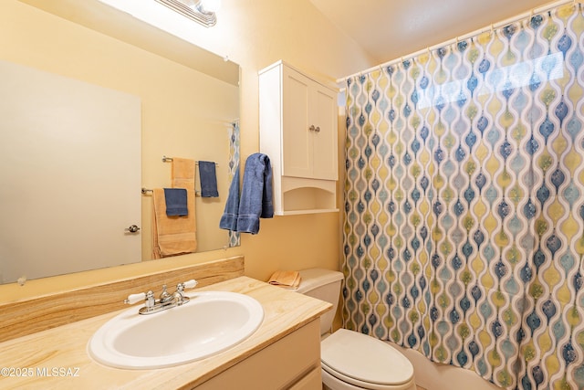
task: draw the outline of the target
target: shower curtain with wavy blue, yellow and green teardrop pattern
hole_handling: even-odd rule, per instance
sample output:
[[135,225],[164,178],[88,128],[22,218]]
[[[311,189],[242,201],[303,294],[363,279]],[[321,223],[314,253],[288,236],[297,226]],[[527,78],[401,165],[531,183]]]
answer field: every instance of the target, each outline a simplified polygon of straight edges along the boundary
[[346,328],[584,388],[583,32],[570,2],[347,80]]

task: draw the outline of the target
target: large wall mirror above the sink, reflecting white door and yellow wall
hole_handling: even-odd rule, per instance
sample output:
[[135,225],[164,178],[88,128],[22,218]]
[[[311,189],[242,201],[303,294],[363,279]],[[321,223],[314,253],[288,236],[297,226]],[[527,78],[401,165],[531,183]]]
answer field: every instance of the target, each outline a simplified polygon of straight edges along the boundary
[[[0,197],[5,209],[11,210],[6,215],[13,219],[0,220],[0,281],[151,260],[152,196],[148,191],[143,194],[141,189],[172,186],[172,163],[162,161],[163,156],[215,163],[218,196],[195,197],[196,252],[237,246],[238,237],[218,225],[231,177],[239,163],[239,67],[99,1],[84,2],[83,6],[75,1],[22,2],[47,11],[38,14],[35,21],[35,28],[45,33],[24,34],[29,26],[22,23],[2,27],[5,35],[15,37],[3,50],[0,57],[3,64],[53,78],[59,94],[48,96],[61,96],[71,90],[71,85],[82,85],[98,91],[101,98],[105,94],[104,104],[109,102],[113,107],[93,111],[88,116],[73,104],[63,103],[67,100],[61,98],[60,109],[43,107],[41,100],[32,104],[33,98],[26,93],[35,90],[40,82],[29,84],[27,91],[5,90],[0,98],[3,101],[20,97],[20,105],[26,109],[20,119],[38,120],[33,125],[28,123],[28,127],[52,134],[53,141],[64,147],[68,143],[65,140],[71,141],[70,133],[63,135],[60,142],[55,134],[65,134],[67,124],[68,131],[73,131],[85,145],[71,146],[81,154],[57,150],[40,141],[33,148],[30,140],[36,136],[25,135],[23,124],[15,122],[15,115],[2,115],[2,133],[10,134],[2,140],[3,147],[15,149],[18,144],[19,149],[10,161],[3,161],[2,170],[11,181]],[[91,100],[94,93],[80,94],[85,106],[100,107],[101,103]],[[123,97],[131,103],[124,105],[112,97]],[[76,100],[75,95],[71,99]],[[14,107],[4,105],[0,110],[14,112]],[[131,117],[128,122],[123,119],[126,114]],[[101,121],[106,117],[110,117],[110,122],[103,126],[112,131],[113,141],[97,142],[89,131],[96,127],[97,118]],[[48,123],[56,129],[47,130]],[[138,138],[124,144],[129,137],[121,129],[116,130],[116,126],[123,130],[137,126]],[[124,161],[132,150],[138,156],[137,163]],[[40,160],[30,163],[32,157],[26,153],[40,155]],[[81,164],[86,160],[98,165],[98,178],[83,182],[78,178],[89,173],[89,168]],[[122,188],[120,181],[114,181],[110,188],[102,185],[110,182],[112,174],[101,168],[122,171],[122,167],[130,165],[133,174],[119,179],[129,184],[130,189]],[[26,168],[34,169],[40,176],[33,176]],[[65,174],[66,168],[77,172]],[[198,169],[195,174],[195,189],[200,191]],[[7,180],[3,178],[3,183]],[[82,191],[73,192],[76,187]],[[57,189],[69,192],[56,195]],[[9,195],[12,197],[7,201]],[[57,206],[49,195],[65,198],[66,202]],[[70,202],[72,198],[78,204]],[[41,200],[48,201],[48,206]],[[123,223],[116,227],[96,228],[96,215],[102,214],[97,211],[98,206],[114,209],[123,204],[122,200],[138,206],[121,206],[123,211],[114,211],[117,216],[124,216]],[[137,210],[137,216],[134,213],[126,217],[130,209]],[[137,232],[129,229],[134,225],[140,227]],[[116,248],[115,240],[133,241],[138,250]],[[35,250],[25,253],[26,248]]]

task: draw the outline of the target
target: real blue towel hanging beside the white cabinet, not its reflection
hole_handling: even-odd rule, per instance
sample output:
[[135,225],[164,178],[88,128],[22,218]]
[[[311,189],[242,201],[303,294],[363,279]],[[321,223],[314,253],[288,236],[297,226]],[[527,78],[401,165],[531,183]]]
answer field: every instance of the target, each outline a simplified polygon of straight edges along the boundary
[[266,154],[254,153],[245,161],[244,181],[237,216],[238,232],[257,234],[259,218],[274,216],[272,166]]

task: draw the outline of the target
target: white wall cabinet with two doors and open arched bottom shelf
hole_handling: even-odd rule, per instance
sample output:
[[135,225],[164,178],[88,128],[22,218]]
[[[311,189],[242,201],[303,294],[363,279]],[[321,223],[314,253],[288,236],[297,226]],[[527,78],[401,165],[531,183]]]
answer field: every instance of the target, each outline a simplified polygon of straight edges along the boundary
[[259,72],[259,111],[276,215],[339,211],[337,91],[278,61]]

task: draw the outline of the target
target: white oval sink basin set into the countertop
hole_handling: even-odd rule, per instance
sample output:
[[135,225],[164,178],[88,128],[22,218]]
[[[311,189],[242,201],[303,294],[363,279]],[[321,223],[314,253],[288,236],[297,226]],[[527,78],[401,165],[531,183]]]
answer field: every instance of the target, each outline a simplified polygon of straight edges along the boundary
[[244,294],[202,291],[154,314],[138,306],[103,324],[88,344],[91,357],[119,368],[162,368],[223,352],[243,342],[264,320],[262,305]]

